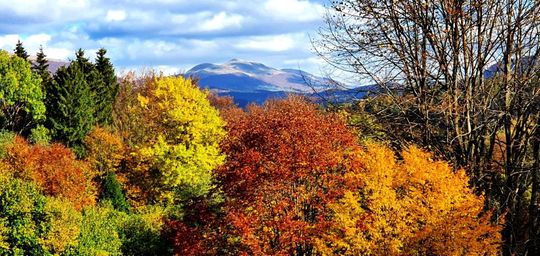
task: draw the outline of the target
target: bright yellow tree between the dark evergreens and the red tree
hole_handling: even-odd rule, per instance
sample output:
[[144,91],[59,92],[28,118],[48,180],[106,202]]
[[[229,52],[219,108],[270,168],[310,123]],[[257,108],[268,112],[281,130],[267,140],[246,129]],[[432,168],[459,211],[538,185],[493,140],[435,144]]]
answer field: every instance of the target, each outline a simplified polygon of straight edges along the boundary
[[131,196],[165,203],[207,193],[212,170],[224,159],[218,145],[224,123],[217,110],[189,79],[156,77],[143,86],[128,105],[126,121],[137,127],[124,126],[134,148],[126,160]]

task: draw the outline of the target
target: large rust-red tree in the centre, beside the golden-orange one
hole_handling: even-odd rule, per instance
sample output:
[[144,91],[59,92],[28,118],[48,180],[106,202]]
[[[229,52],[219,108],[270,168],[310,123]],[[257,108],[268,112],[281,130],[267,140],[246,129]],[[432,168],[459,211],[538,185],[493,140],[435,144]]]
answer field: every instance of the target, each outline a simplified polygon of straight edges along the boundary
[[228,160],[217,179],[238,253],[310,254],[331,225],[354,136],[299,97],[225,114]]

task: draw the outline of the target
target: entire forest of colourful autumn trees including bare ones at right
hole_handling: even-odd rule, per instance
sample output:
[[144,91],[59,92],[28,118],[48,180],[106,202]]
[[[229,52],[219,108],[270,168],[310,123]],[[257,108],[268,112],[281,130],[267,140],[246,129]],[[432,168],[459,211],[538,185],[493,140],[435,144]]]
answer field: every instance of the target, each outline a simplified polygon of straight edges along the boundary
[[380,90],[245,108],[79,49],[0,50],[1,255],[537,255],[536,1],[334,1]]

